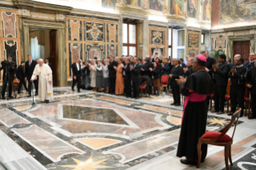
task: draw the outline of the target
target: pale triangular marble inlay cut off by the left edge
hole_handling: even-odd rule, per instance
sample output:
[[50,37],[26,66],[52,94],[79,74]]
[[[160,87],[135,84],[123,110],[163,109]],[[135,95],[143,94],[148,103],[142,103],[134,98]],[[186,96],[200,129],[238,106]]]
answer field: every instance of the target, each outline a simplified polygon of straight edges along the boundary
[[6,125],[6,127],[12,127],[18,123],[30,123],[28,120],[23,119],[21,116],[16,115],[14,112],[7,108],[0,110],[0,121]]

